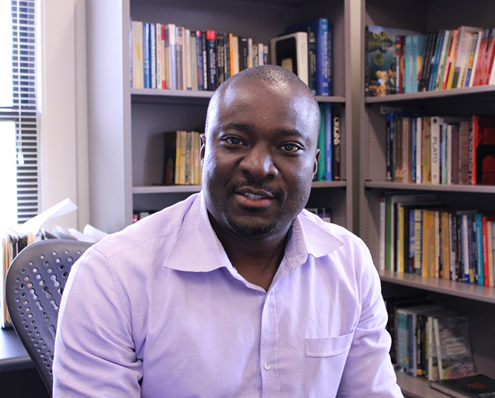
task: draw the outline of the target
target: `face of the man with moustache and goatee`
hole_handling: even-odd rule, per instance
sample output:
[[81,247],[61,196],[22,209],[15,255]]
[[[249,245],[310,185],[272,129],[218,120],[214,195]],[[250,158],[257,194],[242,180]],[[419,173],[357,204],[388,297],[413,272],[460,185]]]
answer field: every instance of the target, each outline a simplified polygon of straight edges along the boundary
[[311,107],[308,93],[284,84],[243,79],[224,90],[201,151],[214,226],[245,238],[286,233],[318,164]]

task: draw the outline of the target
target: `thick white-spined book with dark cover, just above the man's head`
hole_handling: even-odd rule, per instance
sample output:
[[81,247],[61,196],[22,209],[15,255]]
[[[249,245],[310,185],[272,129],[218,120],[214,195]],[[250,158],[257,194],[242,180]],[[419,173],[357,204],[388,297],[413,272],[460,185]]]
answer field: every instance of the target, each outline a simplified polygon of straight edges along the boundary
[[283,66],[308,84],[308,33],[296,32],[274,37],[272,63]]

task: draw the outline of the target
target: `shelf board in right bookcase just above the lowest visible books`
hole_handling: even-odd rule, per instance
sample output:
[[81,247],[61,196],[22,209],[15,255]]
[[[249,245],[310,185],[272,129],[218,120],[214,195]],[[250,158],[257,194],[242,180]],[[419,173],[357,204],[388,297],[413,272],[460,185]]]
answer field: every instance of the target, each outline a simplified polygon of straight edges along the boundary
[[428,278],[417,274],[402,274],[393,271],[379,270],[378,274],[383,282],[396,283],[426,291],[456,295],[462,298],[495,304],[495,288],[474,285],[472,283],[449,281],[441,278]]

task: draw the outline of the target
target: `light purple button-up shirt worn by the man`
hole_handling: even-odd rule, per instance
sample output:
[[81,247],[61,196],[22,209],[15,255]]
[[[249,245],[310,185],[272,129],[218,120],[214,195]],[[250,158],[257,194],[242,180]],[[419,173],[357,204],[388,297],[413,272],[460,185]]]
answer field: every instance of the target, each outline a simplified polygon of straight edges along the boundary
[[303,211],[265,292],[232,266],[195,194],[74,265],[54,398],[402,397],[386,322],[355,235]]

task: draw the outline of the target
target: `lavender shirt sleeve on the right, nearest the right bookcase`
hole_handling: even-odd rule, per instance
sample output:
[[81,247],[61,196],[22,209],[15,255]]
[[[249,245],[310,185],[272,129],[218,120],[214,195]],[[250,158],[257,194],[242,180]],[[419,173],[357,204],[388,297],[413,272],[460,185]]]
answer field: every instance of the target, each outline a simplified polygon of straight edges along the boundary
[[381,295],[380,278],[368,248],[363,249],[361,316],[354,330],[338,398],[403,398],[390,360],[388,315]]

